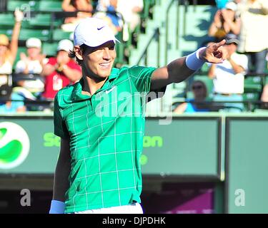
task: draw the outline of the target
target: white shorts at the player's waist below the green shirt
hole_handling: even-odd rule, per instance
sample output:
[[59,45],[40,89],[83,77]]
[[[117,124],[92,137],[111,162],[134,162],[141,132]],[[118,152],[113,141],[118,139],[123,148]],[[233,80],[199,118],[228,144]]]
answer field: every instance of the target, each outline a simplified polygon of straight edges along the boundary
[[142,206],[139,203],[133,203],[118,207],[106,207],[100,209],[89,209],[83,212],[74,212],[74,214],[143,214]]

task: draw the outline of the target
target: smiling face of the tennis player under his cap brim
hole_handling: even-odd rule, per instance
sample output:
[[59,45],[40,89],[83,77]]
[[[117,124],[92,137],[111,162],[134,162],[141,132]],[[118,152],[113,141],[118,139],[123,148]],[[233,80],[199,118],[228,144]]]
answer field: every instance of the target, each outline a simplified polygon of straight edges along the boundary
[[86,48],[82,66],[84,66],[88,76],[93,76],[102,81],[111,74],[115,58],[114,41],[108,41],[96,48]]

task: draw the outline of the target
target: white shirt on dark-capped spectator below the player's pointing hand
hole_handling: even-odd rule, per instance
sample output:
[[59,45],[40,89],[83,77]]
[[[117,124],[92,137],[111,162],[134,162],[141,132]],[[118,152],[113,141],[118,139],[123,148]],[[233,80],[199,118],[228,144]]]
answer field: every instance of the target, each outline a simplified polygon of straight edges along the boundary
[[[248,59],[244,54],[233,53],[232,60],[247,72]],[[215,69],[214,93],[241,94],[244,93],[244,73],[234,73],[229,61],[217,64]]]

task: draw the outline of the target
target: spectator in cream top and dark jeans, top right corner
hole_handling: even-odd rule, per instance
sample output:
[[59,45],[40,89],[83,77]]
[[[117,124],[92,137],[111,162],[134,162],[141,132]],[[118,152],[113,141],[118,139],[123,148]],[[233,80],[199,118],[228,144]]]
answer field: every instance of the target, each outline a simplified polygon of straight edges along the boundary
[[268,1],[242,1],[239,4],[239,14],[242,24],[238,51],[249,58],[250,71],[264,73],[268,48]]

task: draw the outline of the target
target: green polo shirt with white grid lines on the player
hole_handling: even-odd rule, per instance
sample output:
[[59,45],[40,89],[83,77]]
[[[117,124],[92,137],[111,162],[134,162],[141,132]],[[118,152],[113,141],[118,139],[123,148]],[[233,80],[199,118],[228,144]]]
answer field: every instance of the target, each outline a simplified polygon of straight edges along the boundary
[[140,202],[139,163],[145,98],[155,68],[113,68],[104,86],[82,95],[82,83],[59,90],[54,133],[70,139],[66,213]]

